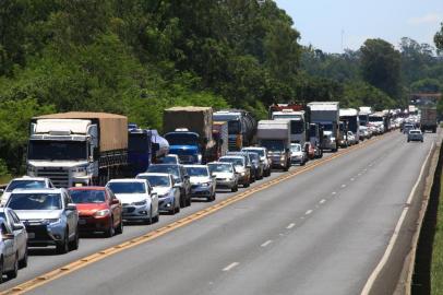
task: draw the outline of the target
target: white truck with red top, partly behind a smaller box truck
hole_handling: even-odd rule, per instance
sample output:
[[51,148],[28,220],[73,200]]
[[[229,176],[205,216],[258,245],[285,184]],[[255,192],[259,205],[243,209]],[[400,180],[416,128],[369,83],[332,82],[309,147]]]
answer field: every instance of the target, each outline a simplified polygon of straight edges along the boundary
[[290,141],[304,146],[307,141],[307,118],[301,104],[274,104],[270,106],[270,119],[290,120]]

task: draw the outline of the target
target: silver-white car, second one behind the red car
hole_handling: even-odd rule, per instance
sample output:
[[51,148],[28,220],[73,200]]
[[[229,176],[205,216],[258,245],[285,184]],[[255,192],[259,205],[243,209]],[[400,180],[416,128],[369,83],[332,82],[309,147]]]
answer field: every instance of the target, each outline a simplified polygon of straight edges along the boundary
[[141,173],[136,179],[146,179],[158,196],[158,210],[171,215],[180,212],[180,185],[167,173]]

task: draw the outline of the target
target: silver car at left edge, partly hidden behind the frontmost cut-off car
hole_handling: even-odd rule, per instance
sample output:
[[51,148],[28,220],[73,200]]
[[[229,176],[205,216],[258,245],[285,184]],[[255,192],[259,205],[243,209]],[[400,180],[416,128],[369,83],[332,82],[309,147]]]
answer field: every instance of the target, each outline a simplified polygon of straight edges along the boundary
[[16,253],[19,256],[19,268],[27,267],[27,232],[23,222],[15,214],[14,210],[10,208],[0,208],[0,219],[7,223],[9,232],[14,235],[14,243]]

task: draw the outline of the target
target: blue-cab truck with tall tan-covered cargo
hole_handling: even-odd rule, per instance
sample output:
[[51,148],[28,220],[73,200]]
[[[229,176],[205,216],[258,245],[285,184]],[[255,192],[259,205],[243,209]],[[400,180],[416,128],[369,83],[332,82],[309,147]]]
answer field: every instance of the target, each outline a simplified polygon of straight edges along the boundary
[[169,153],[182,164],[205,164],[216,158],[213,140],[212,107],[171,107],[165,109],[163,127]]

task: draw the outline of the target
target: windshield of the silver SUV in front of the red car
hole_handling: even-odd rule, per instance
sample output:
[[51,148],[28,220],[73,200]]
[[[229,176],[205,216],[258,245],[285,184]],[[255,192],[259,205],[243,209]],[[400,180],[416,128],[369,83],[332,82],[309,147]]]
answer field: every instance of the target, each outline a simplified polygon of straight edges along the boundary
[[60,193],[12,193],[8,206],[12,210],[60,210]]

